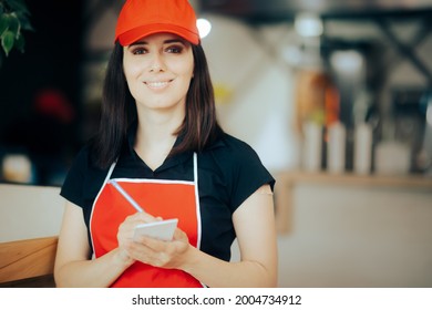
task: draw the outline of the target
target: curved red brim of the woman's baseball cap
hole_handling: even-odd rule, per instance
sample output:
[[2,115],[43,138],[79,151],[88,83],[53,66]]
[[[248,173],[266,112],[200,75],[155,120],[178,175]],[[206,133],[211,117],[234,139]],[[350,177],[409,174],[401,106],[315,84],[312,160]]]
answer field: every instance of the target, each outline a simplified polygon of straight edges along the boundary
[[127,46],[138,41],[142,38],[155,33],[161,33],[161,32],[177,34],[195,45],[199,43],[199,35],[197,33],[191,32],[187,29],[184,29],[182,27],[176,27],[174,24],[163,24],[163,23],[146,24],[146,25],[134,28],[130,31],[120,34],[119,38],[116,38],[116,40],[119,40],[121,45]]

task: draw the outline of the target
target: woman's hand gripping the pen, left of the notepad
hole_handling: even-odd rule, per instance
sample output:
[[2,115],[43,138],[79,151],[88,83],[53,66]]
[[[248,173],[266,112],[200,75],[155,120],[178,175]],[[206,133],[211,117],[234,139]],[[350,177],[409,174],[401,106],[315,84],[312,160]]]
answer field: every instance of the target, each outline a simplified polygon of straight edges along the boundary
[[131,216],[127,216],[125,220],[119,226],[117,230],[117,242],[119,242],[119,255],[120,259],[127,265],[132,265],[135,259],[132,258],[130,254],[130,248],[134,244],[133,235],[135,226],[144,223],[152,223],[161,220],[160,217],[155,218],[154,216],[147,213],[136,213]]

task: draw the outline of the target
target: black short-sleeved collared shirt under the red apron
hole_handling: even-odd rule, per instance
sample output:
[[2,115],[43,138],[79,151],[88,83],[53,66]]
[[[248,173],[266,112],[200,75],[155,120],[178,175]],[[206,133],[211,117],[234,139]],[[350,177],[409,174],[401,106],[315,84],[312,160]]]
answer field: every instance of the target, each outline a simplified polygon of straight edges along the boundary
[[[113,178],[194,179],[193,152],[167,157],[157,169],[152,170],[137,156],[133,145],[134,136],[130,135],[113,170]],[[249,145],[228,134],[220,134],[213,145],[198,153],[197,162],[200,250],[228,261],[236,237],[232,220],[234,211],[261,185],[269,184],[272,189],[275,179]],[[85,146],[61,188],[61,196],[83,208],[88,228],[94,199],[107,170],[92,164],[90,148]]]

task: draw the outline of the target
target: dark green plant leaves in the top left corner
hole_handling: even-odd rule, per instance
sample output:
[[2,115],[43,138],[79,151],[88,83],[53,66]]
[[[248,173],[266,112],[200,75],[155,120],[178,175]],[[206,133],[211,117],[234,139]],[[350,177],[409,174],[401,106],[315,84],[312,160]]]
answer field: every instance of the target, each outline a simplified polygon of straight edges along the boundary
[[33,30],[29,17],[30,12],[23,0],[0,0],[0,40],[7,56],[13,48],[24,51],[22,30]]

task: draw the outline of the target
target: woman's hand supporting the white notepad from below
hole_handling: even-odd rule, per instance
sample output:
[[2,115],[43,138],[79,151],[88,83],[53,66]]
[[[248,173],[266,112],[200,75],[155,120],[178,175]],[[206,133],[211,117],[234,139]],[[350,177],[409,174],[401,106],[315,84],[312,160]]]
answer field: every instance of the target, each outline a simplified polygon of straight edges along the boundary
[[141,236],[135,242],[128,245],[128,254],[134,260],[154,267],[179,269],[189,247],[186,232],[176,228],[172,241]]

